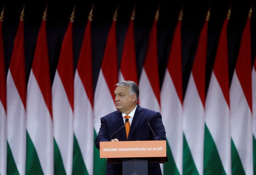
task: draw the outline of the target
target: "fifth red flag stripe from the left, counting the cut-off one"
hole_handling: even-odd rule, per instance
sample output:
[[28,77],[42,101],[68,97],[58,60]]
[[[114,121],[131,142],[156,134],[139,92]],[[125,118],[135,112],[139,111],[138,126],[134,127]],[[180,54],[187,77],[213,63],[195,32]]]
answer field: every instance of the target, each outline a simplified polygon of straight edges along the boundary
[[93,108],[91,23],[92,22],[88,20],[84,31],[84,41],[77,63],[77,72]]

